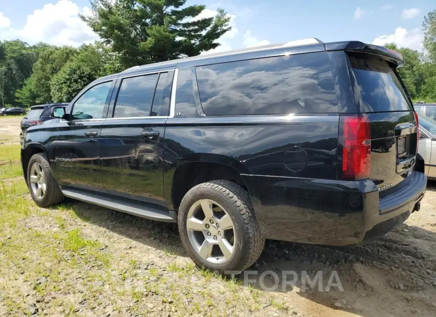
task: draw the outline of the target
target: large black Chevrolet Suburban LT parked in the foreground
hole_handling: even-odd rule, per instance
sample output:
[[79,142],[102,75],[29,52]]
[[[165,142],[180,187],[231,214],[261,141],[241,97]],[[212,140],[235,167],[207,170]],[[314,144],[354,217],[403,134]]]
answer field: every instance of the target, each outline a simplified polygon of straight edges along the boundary
[[248,268],[265,238],[358,244],[426,189],[402,64],[308,39],[135,66],[29,128],[24,176],[39,206],[70,197],[177,222],[187,254],[218,271]]

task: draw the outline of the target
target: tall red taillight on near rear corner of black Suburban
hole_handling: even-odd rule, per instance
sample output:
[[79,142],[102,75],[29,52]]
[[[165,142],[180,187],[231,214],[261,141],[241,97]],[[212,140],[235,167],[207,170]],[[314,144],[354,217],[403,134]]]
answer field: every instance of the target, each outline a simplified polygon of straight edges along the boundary
[[370,177],[371,130],[368,116],[341,117],[343,124],[342,176],[358,180]]

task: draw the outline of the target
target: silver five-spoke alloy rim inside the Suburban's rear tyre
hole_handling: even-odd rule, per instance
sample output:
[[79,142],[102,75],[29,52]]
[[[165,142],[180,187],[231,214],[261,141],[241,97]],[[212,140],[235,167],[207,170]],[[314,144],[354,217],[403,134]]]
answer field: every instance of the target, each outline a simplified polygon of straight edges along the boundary
[[188,211],[186,227],[192,247],[204,260],[213,264],[230,260],[236,247],[234,224],[217,202],[195,202]]

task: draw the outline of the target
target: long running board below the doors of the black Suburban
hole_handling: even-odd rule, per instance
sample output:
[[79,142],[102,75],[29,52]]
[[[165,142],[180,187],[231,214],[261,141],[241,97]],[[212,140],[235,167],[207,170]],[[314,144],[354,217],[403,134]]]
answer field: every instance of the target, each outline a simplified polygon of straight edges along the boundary
[[175,218],[171,217],[171,215],[174,215],[174,213],[170,213],[169,211],[167,211],[166,213],[164,210],[160,210],[158,208],[153,208],[150,206],[129,204],[119,200],[114,200],[113,198],[105,197],[103,195],[100,196],[98,194],[93,194],[93,196],[90,196],[78,190],[62,190],[62,194],[65,197],[81,200],[82,202],[106,207],[121,212],[126,212],[128,214],[142,218],[161,222],[176,222]]

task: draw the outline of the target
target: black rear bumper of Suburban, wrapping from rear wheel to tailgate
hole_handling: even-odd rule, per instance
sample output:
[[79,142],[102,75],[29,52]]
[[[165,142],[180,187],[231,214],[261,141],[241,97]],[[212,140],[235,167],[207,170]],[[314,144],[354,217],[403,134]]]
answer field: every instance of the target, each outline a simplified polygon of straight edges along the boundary
[[337,181],[245,175],[265,238],[352,245],[376,238],[419,209],[427,177],[413,172],[405,187],[379,199],[372,180]]

